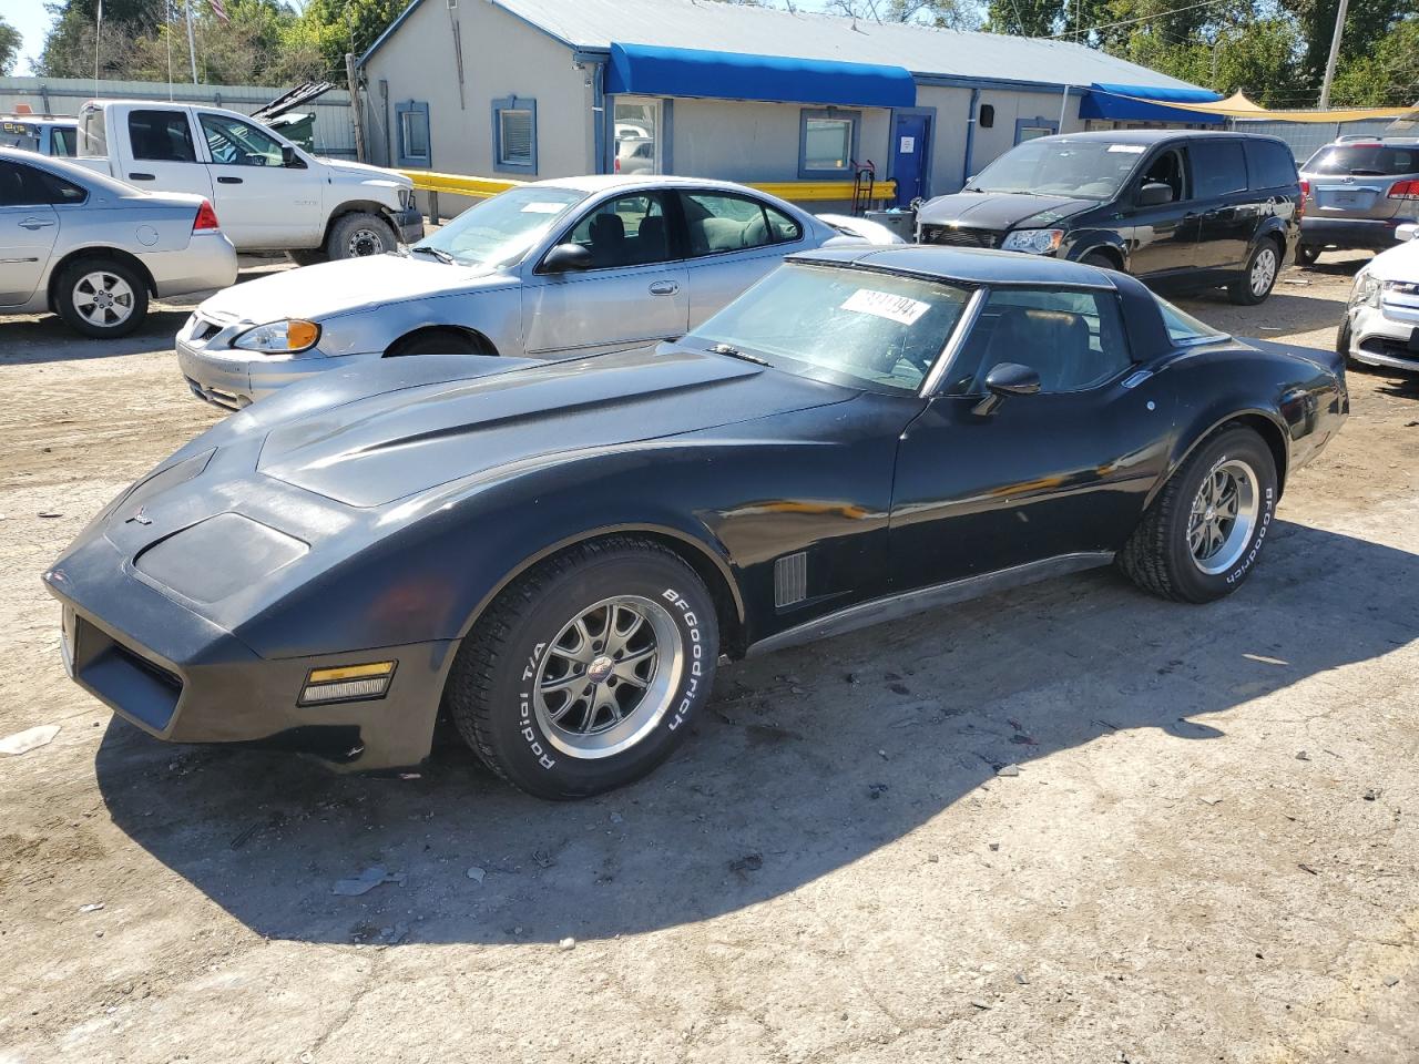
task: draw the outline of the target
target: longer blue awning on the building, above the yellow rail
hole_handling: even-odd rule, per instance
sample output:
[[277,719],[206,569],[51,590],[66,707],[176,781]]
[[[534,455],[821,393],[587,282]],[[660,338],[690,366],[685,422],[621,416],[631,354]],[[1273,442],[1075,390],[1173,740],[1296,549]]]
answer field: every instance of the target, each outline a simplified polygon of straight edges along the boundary
[[867,108],[917,105],[917,82],[902,67],[650,44],[612,44],[606,91]]

